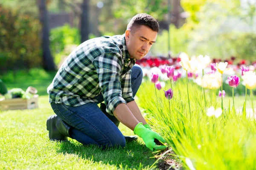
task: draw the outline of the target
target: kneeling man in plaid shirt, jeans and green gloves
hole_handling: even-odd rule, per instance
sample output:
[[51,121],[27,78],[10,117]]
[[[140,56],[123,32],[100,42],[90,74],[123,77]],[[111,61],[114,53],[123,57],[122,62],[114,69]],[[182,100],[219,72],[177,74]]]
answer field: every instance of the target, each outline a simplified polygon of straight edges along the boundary
[[158,31],[153,17],[137,14],[125,34],[87,40],[69,55],[47,88],[56,114],[47,119],[50,140],[70,137],[103,148],[125,147],[137,137],[123,136],[122,122],[149,149],[166,148],[155,144],[154,139],[165,140],[151,130],[134,101],[143,77],[135,62],[148,53]]

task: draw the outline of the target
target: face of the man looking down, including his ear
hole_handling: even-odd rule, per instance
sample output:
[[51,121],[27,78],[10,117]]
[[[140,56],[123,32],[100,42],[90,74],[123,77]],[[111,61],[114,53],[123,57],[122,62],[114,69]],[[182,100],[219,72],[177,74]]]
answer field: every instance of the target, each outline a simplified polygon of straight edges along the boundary
[[125,31],[125,40],[131,58],[142,59],[157,39],[157,32],[147,26],[140,26],[134,33]]

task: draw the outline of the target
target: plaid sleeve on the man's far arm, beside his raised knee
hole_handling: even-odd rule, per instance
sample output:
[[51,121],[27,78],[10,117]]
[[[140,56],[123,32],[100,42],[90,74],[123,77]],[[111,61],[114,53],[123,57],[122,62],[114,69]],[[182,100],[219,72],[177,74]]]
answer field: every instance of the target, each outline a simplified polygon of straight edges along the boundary
[[134,100],[132,90],[131,90],[131,70],[129,70],[122,77],[123,77],[123,79],[121,80],[122,97],[123,99],[125,99],[125,102],[128,103]]

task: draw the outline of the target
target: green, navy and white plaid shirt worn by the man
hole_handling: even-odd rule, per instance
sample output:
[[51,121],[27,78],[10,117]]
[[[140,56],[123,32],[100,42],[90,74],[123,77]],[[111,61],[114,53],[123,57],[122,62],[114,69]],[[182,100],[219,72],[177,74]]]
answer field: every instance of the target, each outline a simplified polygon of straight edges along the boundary
[[134,100],[131,91],[131,68],[136,59],[128,53],[125,34],[103,36],[79,45],[61,65],[47,88],[49,102],[79,106],[98,102],[102,93],[107,112],[120,103]]

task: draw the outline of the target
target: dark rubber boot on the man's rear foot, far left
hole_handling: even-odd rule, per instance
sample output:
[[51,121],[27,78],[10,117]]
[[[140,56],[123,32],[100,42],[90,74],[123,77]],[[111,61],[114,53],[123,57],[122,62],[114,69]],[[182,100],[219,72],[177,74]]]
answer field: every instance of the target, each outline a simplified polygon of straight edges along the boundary
[[57,115],[49,116],[46,122],[51,141],[66,141],[69,135],[70,126],[61,120]]

